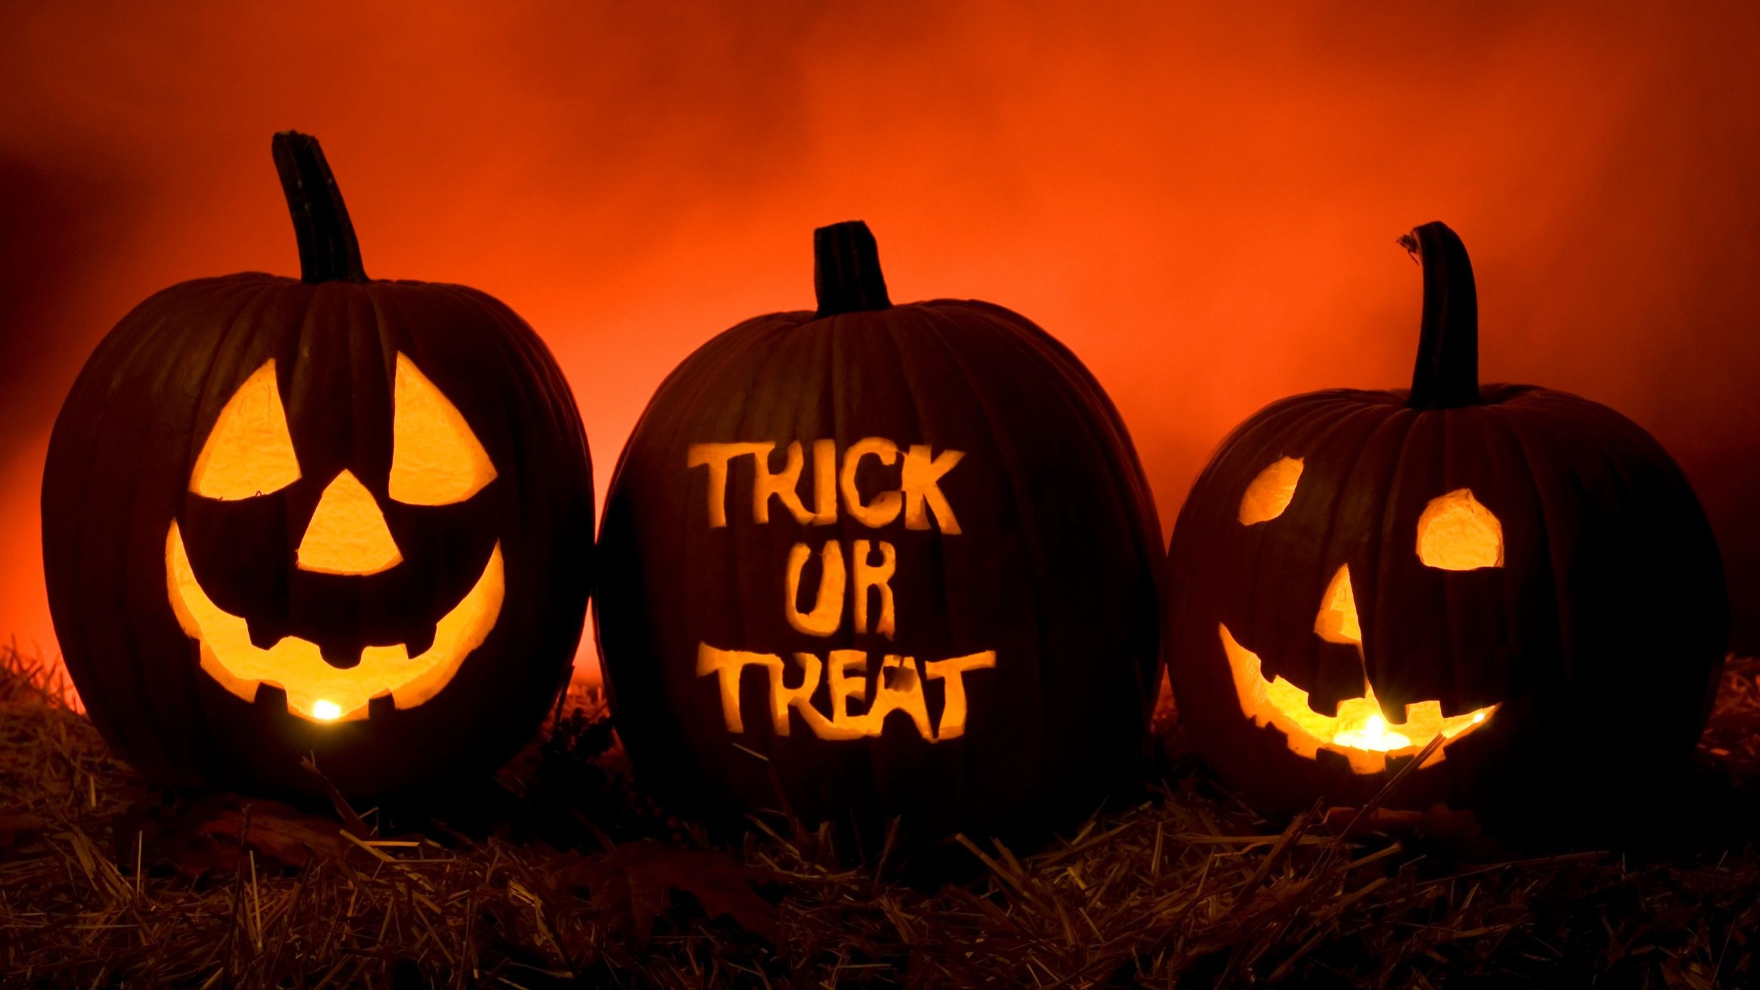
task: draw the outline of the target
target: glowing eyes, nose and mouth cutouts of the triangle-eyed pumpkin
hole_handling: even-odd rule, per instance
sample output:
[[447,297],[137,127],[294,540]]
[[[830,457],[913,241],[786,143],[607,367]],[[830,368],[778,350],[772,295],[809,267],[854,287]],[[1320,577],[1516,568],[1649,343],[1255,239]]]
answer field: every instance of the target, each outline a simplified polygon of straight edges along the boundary
[[[463,502],[495,481],[495,465],[458,407],[403,354],[392,386],[392,463],[387,491],[412,506]],[[220,410],[190,472],[202,499],[257,499],[299,481],[275,361],[264,363]],[[398,567],[403,555],[375,495],[348,470],[319,497],[299,539],[301,571],[363,578]],[[412,708],[440,692],[495,629],[502,611],[500,543],[470,590],[436,624],[433,645],[410,655],[403,643],[366,646],[352,668],[327,662],[317,643],[283,636],[269,648],[250,639],[250,622],[213,602],[190,565],[176,520],[165,536],[165,585],[185,634],[201,645],[201,666],[229,692],[255,701],[271,683],[287,710],[312,720],[364,719],[368,701],[389,694]]]

